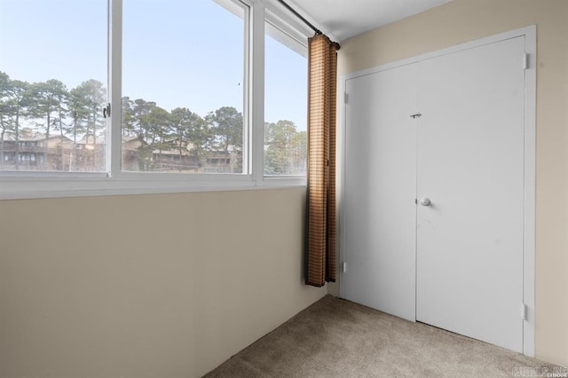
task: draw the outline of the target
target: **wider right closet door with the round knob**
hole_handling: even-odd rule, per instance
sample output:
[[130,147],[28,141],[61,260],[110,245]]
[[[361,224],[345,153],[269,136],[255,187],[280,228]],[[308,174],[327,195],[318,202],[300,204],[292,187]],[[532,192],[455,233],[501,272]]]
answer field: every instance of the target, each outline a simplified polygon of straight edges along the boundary
[[524,37],[418,66],[416,319],[523,350]]

